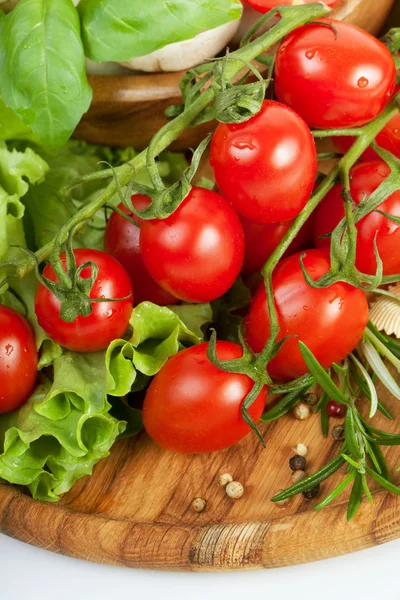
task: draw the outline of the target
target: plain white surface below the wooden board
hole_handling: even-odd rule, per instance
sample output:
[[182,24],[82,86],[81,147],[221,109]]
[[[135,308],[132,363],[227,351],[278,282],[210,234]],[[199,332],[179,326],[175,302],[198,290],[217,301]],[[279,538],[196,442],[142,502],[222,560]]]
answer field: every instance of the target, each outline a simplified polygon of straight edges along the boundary
[[86,563],[0,534],[1,600],[400,600],[399,575],[400,540],[284,569],[163,573]]

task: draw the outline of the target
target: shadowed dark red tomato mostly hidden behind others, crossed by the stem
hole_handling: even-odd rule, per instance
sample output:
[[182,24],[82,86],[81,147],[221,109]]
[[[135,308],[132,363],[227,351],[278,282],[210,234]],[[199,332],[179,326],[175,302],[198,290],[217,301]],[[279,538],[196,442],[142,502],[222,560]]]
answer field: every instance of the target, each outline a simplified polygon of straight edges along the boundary
[[[242,273],[250,275],[260,271],[264,263],[271,256],[279,242],[286,235],[293,220],[283,223],[253,223],[245,217],[241,217],[245,251]],[[310,247],[313,241],[312,218],[303,225],[296,238],[286,250],[284,257],[290,256],[303,248]]]

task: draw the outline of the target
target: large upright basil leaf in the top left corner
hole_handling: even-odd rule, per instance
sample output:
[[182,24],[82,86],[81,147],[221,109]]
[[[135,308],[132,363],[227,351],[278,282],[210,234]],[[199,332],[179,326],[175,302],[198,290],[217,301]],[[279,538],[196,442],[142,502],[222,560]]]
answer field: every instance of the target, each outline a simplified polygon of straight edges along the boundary
[[6,105],[40,143],[62,146],[92,99],[71,0],[21,0],[0,21],[0,72]]

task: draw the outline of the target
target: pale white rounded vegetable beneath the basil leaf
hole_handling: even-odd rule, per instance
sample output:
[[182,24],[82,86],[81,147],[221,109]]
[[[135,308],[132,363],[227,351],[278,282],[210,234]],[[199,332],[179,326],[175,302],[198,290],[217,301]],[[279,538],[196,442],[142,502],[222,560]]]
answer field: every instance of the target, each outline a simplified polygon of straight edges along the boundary
[[203,31],[190,40],[168,44],[145,56],[121,62],[121,65],[148,73],[186,71],[216,56],[235,35],[239,23],[240,19],[230,21],[215,29]]

